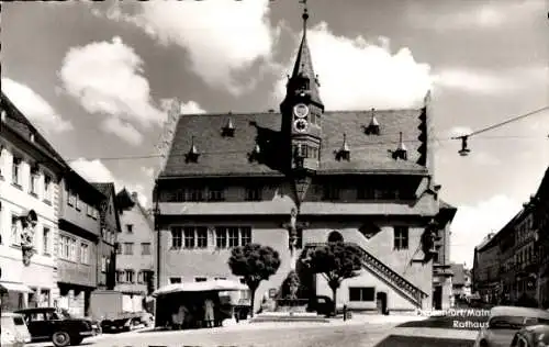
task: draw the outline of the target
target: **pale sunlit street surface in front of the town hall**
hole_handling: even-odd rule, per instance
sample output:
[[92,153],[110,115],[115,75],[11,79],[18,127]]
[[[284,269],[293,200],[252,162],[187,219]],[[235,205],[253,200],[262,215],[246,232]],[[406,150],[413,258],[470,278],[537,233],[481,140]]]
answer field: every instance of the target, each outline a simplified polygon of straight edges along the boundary
[[[354,318],[348,322],[333,323],[257,323],[238,324],[211,329],[179,332],[131,332],[104,334],[86,339],[82,346],[125,347],[125,346],[177,346],[177,347],[468,347],[472,346],[474,331],[429,328],[441,325],[444,317],[413,322],[421,327],[399,327],[408,323],[368,323],[368,318]],[[430,322],[430,323],[424,323]],[[448,323],[446,323],[448,325]],[[450,334],[451,333],[451,334]],[[459,333],[459,334],[457,334]],[[405,335],[405,336],[400,336]],[[452,339],[440,339],[453,335]],[[426,337],[425,337],[426,336]],[[466,339],[464,339],[466,338]],[[53,346],[32,344],[31,346]]]

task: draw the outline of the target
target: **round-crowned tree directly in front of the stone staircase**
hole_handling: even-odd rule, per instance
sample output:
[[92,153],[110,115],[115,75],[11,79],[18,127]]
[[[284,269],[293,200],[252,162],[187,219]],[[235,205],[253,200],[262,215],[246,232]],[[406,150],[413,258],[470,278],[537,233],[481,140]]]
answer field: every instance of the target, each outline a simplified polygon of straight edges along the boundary
[[312,250],[304,260],[312,273],[322,273],[332,289],[334,314],[336,311],[337,289],[343,280],[359,275],[362,268],[360,250],[355,245],[343,242],[328,243],[326,246]]

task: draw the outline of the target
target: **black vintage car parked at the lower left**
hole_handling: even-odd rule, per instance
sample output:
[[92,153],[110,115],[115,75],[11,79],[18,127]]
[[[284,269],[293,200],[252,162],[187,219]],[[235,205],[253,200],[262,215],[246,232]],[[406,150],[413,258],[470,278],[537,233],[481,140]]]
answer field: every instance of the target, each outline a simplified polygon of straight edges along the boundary
[[24,316],[33,342],[52,340],[56,347],[77,346],[98,333],[91,321],[75,318],[55,307],[25,309],[15,313]]

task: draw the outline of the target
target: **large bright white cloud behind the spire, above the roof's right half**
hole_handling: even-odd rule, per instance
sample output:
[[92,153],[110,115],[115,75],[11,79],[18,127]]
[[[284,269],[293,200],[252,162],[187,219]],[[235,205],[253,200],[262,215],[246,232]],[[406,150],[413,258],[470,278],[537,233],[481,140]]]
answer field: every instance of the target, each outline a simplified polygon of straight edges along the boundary
[[[377,45],[361,36],[336,36],[321,23],[307,32],[307,42],[327,109],[410,108],[418,105],[432,86],[429,66],[416,63],[408,48],[392,54],[386,37]],[[287,78],[277,82],[274,100],[285,93],[285,83]]]

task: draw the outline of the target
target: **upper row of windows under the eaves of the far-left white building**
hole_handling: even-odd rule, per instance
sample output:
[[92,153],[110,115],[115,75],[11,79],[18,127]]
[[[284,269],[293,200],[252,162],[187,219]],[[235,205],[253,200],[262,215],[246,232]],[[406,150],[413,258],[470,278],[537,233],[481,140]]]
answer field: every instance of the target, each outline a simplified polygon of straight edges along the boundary
[[[0,148],[1,149],[1,148]],[[4,169],[4,155],[3,150],[0,150],[0,178],[3,177]],[[13,156],[11,163],[11,182],[14,187],[23,189],[23,182],[26,179],[29,193],[35,198],[42,198],[45,202],[52,203],[53,200],[53,179],[46,172],[40,170],[35,166],[30,166],[30,175],[25,177],[23,171],[23,163],[25,160],[21,156]]]

